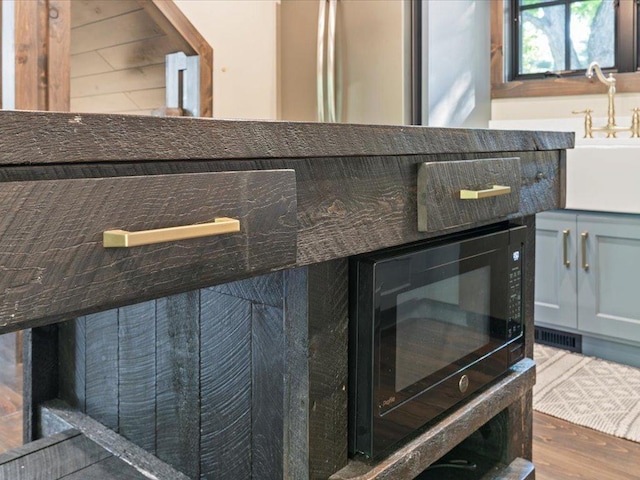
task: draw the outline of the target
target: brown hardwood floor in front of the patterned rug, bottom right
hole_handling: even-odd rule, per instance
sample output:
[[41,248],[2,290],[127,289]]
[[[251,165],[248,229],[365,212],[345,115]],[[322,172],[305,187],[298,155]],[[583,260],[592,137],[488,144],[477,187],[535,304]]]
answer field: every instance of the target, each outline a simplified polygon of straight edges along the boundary
[[640,443],[533,415],[536,480],[640,479]]

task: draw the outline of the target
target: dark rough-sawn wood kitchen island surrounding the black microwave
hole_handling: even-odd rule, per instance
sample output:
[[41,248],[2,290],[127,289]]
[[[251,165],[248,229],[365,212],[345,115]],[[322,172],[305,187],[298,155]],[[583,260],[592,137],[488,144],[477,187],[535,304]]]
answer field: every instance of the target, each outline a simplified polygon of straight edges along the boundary
[[[9,111],[0,131],[0,332],[28,329],[33,442],[0,478],[450,478],[425,470],[461,444],[491,460],[469,478],[533,478],[534,214],[564,205],[573,134]],[[508,201],[456,200],[505,178]],[[525,358],[350,458],[349,258],[505,221],[529,227]]]

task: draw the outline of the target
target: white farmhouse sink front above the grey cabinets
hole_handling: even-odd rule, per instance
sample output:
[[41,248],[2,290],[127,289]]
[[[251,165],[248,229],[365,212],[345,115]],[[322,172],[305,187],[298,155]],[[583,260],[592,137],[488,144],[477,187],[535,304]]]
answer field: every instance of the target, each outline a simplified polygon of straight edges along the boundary
[[567,150],[566,208],[640,213],[640,139],[580,139]]

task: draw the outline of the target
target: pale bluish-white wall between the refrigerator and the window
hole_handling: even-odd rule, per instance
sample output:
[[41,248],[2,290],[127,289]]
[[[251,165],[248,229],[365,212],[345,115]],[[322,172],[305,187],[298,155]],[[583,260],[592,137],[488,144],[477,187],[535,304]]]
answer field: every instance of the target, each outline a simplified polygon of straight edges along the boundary
[[428,57],[425,123],[486,128],[491,115],[490,2],[429,0],[422,5]]

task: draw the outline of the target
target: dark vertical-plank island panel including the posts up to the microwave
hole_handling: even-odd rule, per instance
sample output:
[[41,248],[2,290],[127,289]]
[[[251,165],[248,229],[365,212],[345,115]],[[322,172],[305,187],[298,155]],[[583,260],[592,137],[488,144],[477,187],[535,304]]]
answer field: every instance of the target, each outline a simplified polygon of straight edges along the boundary
[[347,463],[347,292],[339,259],[61,323],[57,395],[36,396],[190,478],[328,478]]

